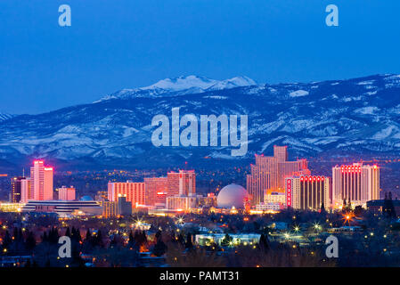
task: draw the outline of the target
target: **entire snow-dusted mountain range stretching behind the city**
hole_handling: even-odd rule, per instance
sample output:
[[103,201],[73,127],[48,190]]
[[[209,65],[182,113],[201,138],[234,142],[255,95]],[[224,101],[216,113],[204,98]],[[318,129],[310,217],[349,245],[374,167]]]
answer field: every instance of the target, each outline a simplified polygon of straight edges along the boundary
[[[247,156],[233,158],[230,147],[154,147],[151,118],[170,118],[174,107],[181,116],[248,115]],[[240,165],[254,153],[271,153],[273,144],[301,157],[400,156],[400,76],[277,85],[247,77],[165,79],[99,102],[0,121],[0,134],[0,161],[40,157],[86,167]]]

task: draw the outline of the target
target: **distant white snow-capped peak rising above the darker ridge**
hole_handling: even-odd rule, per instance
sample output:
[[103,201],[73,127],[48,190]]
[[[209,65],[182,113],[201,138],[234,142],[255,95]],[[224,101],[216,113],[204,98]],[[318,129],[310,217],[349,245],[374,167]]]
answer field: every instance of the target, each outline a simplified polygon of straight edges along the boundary
[[233,77],[225,80],[209,79],[207,77],[188,77],[166,78],[159,82],[141,88],[122,89],[114,94],[103,97],[100,101],[110,99],[127,99],[135,97],[158,97],[176,96],[183,94],[201,94],[211,90],[223,90],[235,87],[257,85],[256,81],[249,77]]

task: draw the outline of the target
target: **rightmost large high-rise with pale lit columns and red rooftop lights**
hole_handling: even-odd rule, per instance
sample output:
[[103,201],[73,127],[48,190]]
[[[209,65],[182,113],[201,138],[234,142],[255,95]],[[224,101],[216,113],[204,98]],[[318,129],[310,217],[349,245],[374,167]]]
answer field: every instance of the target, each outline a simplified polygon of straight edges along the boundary
[[335,207],[341,206],[344,199],[354,206],[380,199],[380,167],[362,163],[333,167],[332,194]]

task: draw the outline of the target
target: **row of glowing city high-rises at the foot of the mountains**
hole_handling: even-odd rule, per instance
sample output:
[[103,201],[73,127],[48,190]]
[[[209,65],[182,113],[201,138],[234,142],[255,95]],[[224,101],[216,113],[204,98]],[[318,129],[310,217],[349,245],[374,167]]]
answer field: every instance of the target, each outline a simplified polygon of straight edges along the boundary
[[[322,208],[338,210],[346,203],[353,206],[366,207],[367,202],[380,199],[380,167],[377,164],[366,165],[356,162],[352,165],[331,167],[331,175],[315,175],[308,168],[306,159],[288,160],[287,146],[273,145],[273,156],[256,155],[256,165],[250,165],[250,174],[245,175],[246,194],[241,190],[233,190],[233,197],[227,194],[227,189],[235,188],[236,181],[221,190],[224,199],[219,199],[218,188],[206,193],[196,193],[195,170],[167,171],[167,175],[144,177],[141,182],[118,182],[109,180],[107,194],[102,198],[98,191],[96,197],[100,201],[120,203],[124,197],[132,209],[151,208],[168,210],[191,210],[201,204],[205,197],[215,197],[226,208],[229,200],[232,207],[250,208],[257,211],[280,211],[284,208],[302,210],[321,210]],[[319,173],[319,170],[316,170]],[[53,189],[53,167],[45,167],[44,160],[34,160],[30,177],[12,177],[9,199],[10,202],[27,203],[31,201],[75,200],[76,189],[73,185],[62,185]],[[31,182],[31,183],[29,183]],[[238,186],[241,187],[241,186]],[[243,188],[244,189],[244,188]],[[235,194],[235,191],[239,191]],[[385,191],[387,194],[387,192]],[[284,196],[280,196],[282,194]],[[88,196],[84,192],[81,197]],[[212,196],[209,196],[212,195]],[[217,195],[214,196],[214,195]],[[235,198],[235,195],[239,195]],[[221,197],[222,197],[221,196]],[[91,198],[93,199],[93,198]],[[87,200],[87,199],[86,199]],[[201,201],[200,201],[201,200]],[[206,202],[209,203],[209,202]],[[199,204],[199,205],[200,205]],[[212,204],[212,202],[211,202]],[[239,205],[239,206],[238,206]],[[240,206],[241,205],[241,206]],[[102,204],[102,207],[110,207]],[[116,206],[115,209],[121,208]],[[229,208],[229,207],[228,207]],[[110,210],[106,209],[108,213]],[[106,216],[109,214],[106,214]]]

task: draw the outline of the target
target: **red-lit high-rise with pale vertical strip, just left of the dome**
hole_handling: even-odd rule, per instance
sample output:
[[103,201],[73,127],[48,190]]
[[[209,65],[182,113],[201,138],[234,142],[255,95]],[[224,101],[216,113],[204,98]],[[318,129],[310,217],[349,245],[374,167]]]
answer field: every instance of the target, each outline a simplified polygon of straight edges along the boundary
[[193,196],[196,194],[194,170],[179,170],[167,173],[167,196]]

